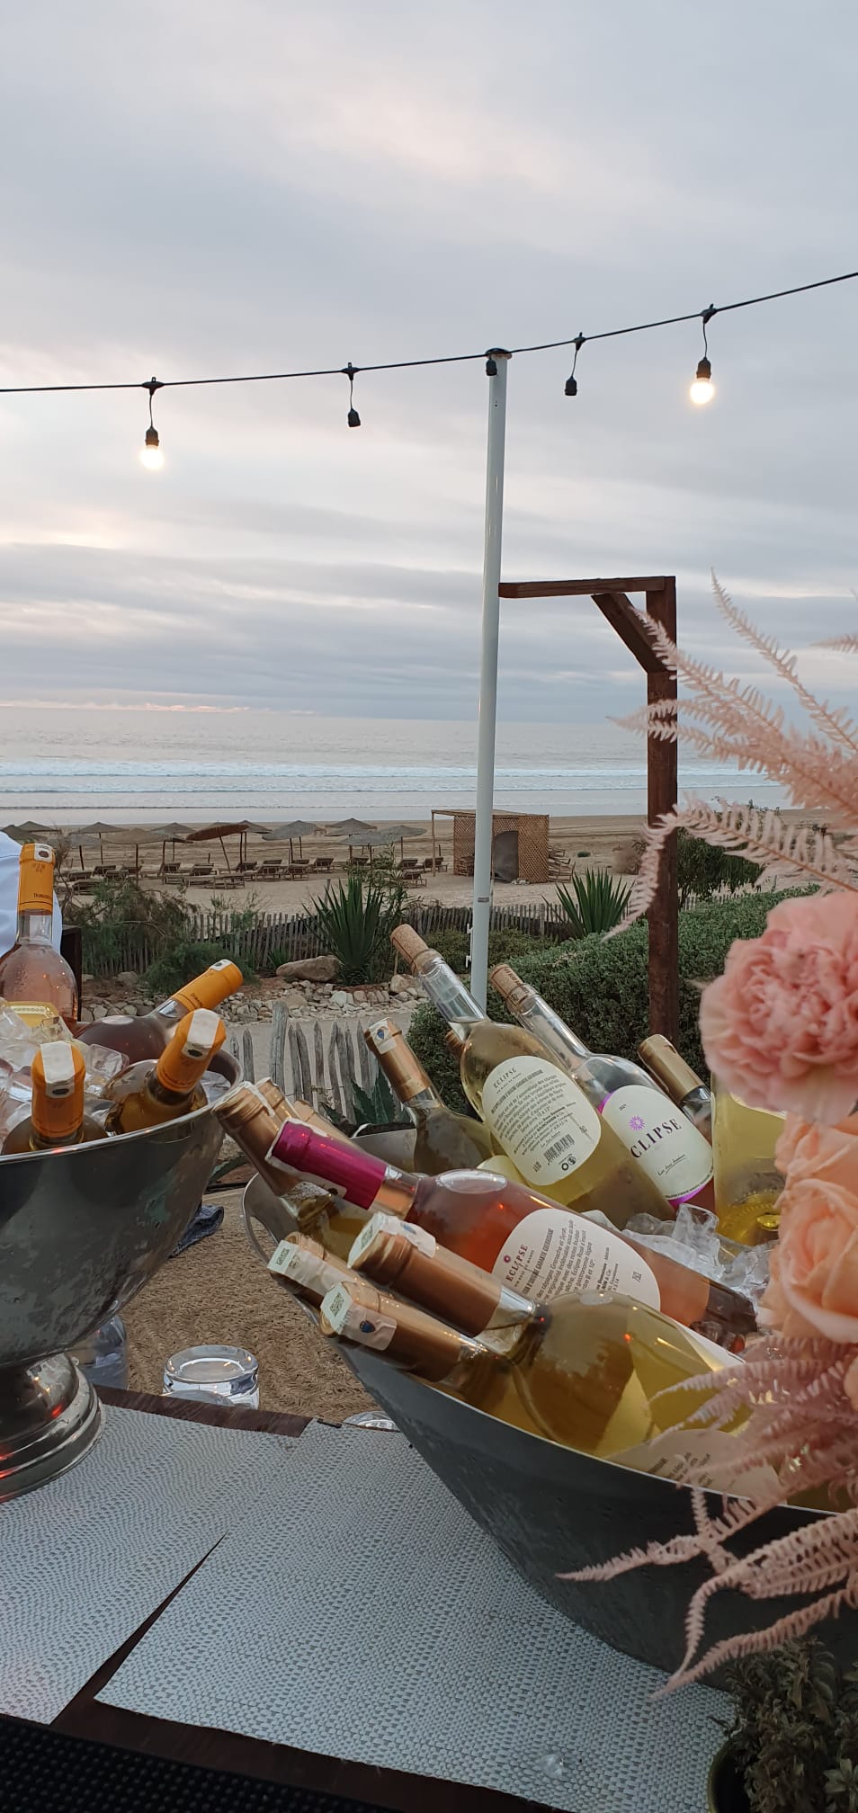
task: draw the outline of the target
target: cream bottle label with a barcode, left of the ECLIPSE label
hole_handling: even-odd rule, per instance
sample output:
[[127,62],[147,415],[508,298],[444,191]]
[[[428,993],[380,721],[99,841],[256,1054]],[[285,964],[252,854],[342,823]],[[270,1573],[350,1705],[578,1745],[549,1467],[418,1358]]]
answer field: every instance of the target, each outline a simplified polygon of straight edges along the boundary
[[528,1184],[559,1184],[599,1146],[599,1115],[544,1057],[508,1057],[483,1084],[483,1117]]

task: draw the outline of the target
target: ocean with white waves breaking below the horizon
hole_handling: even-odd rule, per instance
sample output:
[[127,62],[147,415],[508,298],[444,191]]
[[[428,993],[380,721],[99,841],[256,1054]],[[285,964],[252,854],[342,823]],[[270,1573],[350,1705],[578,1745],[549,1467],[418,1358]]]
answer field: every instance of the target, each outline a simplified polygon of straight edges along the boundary
[[[473,807],[475,747],[473,723],[419,718],[7,705],[0,823],[426,818]],[[778,803],[764,781],[700,761],[680,763],[680,787]],[[611,723],[499,725],[495,807],[642,812],[644,742]]]

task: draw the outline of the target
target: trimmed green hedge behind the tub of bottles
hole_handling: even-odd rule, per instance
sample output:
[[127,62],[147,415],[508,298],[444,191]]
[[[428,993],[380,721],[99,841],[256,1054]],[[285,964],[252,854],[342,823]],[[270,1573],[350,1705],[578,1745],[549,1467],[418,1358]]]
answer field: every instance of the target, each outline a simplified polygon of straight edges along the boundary
[[[680,914],[678,1048],[700,1075],[706,1075],[706,1059],[697,1024],[698,984],[720,975],[735,937],[760,936],[771,905],[771,894],[742,894],[731,901],[711,901]],[[593,1052],[637,1057],[637,1046],[649,1032],[646,921],[609,939],[582,937],[568,945],[542,945],[531,955],[521,957],[515,968]],[[492,1019],[508,1019],[492,988],[488,1012]],[[426,1003],[412,1019],[408,1042],[448,1108],[463,1110],[466,1104],[459,1064],[444,1044],[444,1023]]]

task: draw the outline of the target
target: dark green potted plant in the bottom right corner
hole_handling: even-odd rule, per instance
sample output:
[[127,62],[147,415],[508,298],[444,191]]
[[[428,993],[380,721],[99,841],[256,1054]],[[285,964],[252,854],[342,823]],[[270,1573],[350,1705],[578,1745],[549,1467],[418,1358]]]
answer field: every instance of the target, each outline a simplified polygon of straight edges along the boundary
[[735,1663],[709,1813],[858,1813],[858,1666],[809,1637]]

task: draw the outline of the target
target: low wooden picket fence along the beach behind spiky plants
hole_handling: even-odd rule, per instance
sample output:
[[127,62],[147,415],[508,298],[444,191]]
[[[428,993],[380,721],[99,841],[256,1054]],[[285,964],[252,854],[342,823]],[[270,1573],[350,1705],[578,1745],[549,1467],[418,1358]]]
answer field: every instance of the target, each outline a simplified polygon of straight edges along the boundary
[[[432,901],[426,905],[408,901],[408,919],[421,937],[450,930],[466,932],[472,908],[470,903],[441,906]],[[492,930],[508,928],[528,932],[531,937],[562,939],[570,936],[570,921],[562,906],[553,901],[495,906]],[[270,974],[278,963],[319,957],[330,948],[312,914],[259,914],[254,925],[236,926],[230,912],[190,910],[185,937],[192,943],[227,945],[236,963],[245,961],[258,975]],[[141,975],[158,955],[158,945],[145,936],[145,928],[138,921],[127,926],[109,926],[103,934],[100,926],[83,926],[83,968],[93,975],[118,975],[120,970]]]

